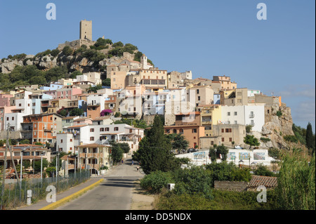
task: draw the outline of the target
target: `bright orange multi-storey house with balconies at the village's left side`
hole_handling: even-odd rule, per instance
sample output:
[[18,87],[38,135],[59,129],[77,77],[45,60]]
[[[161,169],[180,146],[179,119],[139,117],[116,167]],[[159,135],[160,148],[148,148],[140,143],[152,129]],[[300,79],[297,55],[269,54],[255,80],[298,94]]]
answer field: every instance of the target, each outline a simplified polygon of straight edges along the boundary
[[56,134],[62,131],[62,116],[59,114],[31,114],[23,117],[22,138],[32,143],[53,143]]

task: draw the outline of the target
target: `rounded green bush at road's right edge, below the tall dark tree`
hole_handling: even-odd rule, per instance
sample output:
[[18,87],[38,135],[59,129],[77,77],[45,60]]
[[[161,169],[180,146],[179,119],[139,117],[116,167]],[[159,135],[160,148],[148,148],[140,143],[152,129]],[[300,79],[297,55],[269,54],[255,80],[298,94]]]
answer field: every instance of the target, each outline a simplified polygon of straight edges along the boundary
[[173,183],[171,173],[153,171],[140,180],[140,187],[152,194],[155,194],[162,192],[162,189],[167,187],[168,183]]

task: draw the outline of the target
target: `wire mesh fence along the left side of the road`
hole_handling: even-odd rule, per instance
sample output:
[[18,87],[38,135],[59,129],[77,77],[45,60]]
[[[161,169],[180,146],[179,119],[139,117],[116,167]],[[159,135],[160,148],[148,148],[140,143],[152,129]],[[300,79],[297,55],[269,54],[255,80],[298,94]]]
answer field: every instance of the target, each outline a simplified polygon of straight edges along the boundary
[[[46,187],[53,185],[56,188],[56,193],[65,191],[70,187],[84,183],[91,177],[90,171],[81,171],[70,174],[68,177],[58,178],[43,178],[41,179],[27,179],[22,180],[21,188],[18,183],[9,183],[4,187],[4,195],[1,195],[1,209],[9,210],[27,204],[27,190],[32,190],[32,203],[41,199],[45,199],[48,192]],[[2,186],[0,185],[0,194],[2,193]]]

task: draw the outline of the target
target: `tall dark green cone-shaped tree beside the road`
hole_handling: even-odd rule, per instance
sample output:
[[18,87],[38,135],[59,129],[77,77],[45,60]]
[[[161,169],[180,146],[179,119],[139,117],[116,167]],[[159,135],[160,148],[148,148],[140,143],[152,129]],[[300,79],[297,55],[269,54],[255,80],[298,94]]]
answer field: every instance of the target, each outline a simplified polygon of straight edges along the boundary
[[145,173],[152,171],[171,171],[178,163],[171,152],[170,140],[164,135],[164,124],[159,116],[154,117],[152,128],[139,143],[139,149],[133,159],[140,162]]

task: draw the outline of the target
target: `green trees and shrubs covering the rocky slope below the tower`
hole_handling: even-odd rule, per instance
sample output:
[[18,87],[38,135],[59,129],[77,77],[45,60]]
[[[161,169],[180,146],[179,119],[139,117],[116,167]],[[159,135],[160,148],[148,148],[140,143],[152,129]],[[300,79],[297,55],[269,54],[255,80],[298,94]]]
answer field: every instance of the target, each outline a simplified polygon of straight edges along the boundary
[[[102,53],[101,50],[112,47],[112,49],[108,53]],[[9,74],[3,74],[0,71],[0,90],[2,91],[10,91],[15,88],[15,86],[24,86],[29,84],[49,84],[51,81],[58,81],[58,79],[74,79],[81,72],[70,69],[74,62],[81,60],[82,58],[87,58],[89,62],[92,62],[92,66],[94,69],[105,72],[106,65],[101,66],[99,62],[101,60],[105,60],[106,58],[112,58],[113,56],[121,57],[124,52],[129,52],[131,54],[135,54],[134,60],[140,62],[140,57],[143,55],[140,51],[138,51],[137,46],[133,44],[123,44],[121,41],[117,43],[112,43],[111,39],[103,39],[99,38],[96,41],[96,44],[90,46],[89,48],[86,45],[82,45],[79,49],[74,51],[69,46],[65,46],[62,51],[56,49],[37,53],[34,58],[26,58],[25,53],[17,54],[17,55],[8,55],[7,58],[2,58],[1,62],[4,62],[6,59],[10,60],[22,60],[23,66],[17,65],[13,69],[13,71]],[[66,65],[53,67],[50,70],[44,70],[43,67],[39,65],[27,65],[27,61],[31,60],[39,60],[46,61],[47,58],[57,58],[57,62],[65,62],[65,57],[72,56],[72,59]],[[152,65],[152,61],[148,60]],[[59,64],[58,64],[59,65]],[[110,79],[106,79],[103,76],[103,85],[110,86]]]

